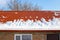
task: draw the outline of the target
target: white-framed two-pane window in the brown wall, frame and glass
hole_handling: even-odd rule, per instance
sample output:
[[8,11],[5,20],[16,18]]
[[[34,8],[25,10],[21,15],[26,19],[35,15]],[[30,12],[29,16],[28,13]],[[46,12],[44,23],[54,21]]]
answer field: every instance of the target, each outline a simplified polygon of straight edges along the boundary
[[32,40],[32,34],[15,34],[14,40]]

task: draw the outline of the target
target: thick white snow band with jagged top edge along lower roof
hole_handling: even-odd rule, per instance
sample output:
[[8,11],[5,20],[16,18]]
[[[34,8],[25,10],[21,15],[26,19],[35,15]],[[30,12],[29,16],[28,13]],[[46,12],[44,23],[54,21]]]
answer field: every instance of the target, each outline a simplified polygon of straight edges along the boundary
[[6,23],[0,23],[0,30],[60,30],[60,19],[53,18],[47,22],[44,18],[41,20],[14,20]]

